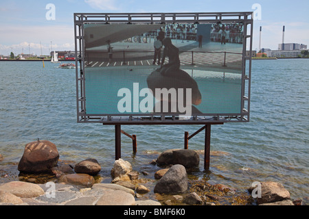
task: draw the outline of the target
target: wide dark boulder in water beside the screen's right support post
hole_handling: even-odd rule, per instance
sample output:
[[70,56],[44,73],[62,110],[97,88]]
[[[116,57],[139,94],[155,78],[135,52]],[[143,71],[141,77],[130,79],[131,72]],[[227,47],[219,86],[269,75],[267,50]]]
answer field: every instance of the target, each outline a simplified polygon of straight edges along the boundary
[[185,168],[192,168],[200,164],[200,157],[194,150],[170,149],[159,155],[157,164],[159,166],[181,164]]

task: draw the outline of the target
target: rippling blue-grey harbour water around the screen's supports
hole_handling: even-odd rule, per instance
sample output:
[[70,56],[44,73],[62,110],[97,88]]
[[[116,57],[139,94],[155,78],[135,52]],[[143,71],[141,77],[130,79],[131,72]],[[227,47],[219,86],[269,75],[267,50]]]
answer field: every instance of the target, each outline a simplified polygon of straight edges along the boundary
[[[75,70],[55,68],[45,62],[0,62],[0,170],[16,172],[25,144],[40,138],[57,145],[60,159],[80,162],[98,159],[102,176],[110,175],[114,162],[114,127],[76,123]],[[211,129],[210,172],[203,172],[203,155],[195,179],[223,183],[239,190],[253,181],[279,181],[292,198],[308,203],[309,60],[253,60],[251,122],[229,123]],[[153,172],[148,164],[156,152],[183,148],[184,132],[201,126],[123,126],[137,135],[137,155],[132,142],[122,137],[122,158],[135,170]],[[204,149],[204,135],[189,142]],[[0,177],[0,181],[4,180]]]

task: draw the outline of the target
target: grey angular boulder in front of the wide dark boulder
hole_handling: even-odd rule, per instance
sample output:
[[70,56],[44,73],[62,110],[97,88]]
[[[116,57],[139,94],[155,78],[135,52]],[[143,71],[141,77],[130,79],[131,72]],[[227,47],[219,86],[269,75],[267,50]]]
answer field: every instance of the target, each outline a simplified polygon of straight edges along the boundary
[[155,193],[183,193],[187,190],[187,172],[185,167],[176,164],[168,170],[168,172],[159,179],[155,185]]

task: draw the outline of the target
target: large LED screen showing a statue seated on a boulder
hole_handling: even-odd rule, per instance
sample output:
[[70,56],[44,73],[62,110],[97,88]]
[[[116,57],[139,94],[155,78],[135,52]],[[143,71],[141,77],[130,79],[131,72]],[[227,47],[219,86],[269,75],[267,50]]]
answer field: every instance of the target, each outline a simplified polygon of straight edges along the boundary
[[85,24],[91,116],[240,114],[243,25]]

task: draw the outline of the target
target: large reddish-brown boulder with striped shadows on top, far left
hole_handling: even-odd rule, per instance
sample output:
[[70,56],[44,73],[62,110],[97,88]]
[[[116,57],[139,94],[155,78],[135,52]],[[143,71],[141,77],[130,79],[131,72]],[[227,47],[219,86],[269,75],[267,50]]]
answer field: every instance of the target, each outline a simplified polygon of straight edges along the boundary
[[56,145],[49,141],[31,142],[25,146],[23,157],[19,162],[21,172],[50,172],[57,165],[59,153]]

